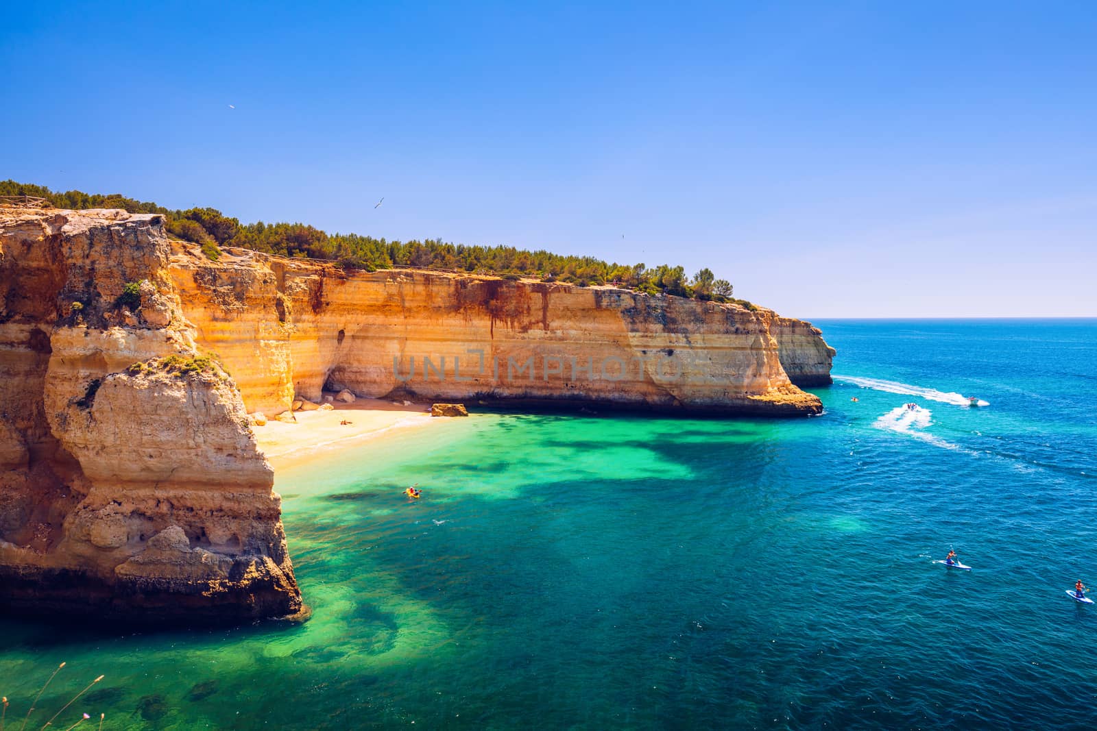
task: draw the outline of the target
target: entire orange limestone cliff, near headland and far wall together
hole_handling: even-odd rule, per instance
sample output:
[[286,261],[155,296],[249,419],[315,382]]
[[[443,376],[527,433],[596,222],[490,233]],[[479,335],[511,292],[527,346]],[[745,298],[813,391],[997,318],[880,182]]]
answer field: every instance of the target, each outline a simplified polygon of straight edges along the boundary
[[307,614],[249,413],[348,389],[813,414],[798,385],[829,382],[834,355],[808,323],[734,304],[212,262],[122,210],[0,208],[0,605],[112,618]]

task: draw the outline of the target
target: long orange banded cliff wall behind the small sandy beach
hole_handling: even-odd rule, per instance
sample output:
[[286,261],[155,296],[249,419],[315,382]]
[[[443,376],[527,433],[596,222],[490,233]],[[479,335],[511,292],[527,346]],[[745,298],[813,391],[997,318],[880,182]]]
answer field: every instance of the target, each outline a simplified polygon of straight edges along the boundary
[[183,249],[171,273],[199,346],[267,415],[325,387],[792,415],[822,409],[796,379],[829,379],[819,332],[765,309],[439,272],[348,274],[244,250],[213,263]]

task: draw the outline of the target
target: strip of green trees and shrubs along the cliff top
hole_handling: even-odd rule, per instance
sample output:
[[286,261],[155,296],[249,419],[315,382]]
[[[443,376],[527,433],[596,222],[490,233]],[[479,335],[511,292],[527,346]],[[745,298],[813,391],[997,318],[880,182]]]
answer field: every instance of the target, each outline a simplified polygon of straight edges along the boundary
[[[219,247],[240,247],[281,256],[335,260],[346,267],[375,271],[392,266],[456,270],[471,273],[540,277],[580,286],[617,284],[649,295],[668,294],[697,299],[735,301],[755,309],[745,300],[732,298],[732,285],[702,269],[693,278],[681,266],[661,264],[611,264],[593,256],[523,251],[514,247],[473,247],[441,239],[386,241],[358,233],[327,233],[305,224],[241,224],[215,208],[171,210],[155,203],[127,198],[120,194],[90,195],[80,191],[55,193],[42,185],[0,181],[0,195],[33,195],[46,198],[58,208],[123,208],[129,213],[160,214],[167,231],[202,247],[216,261]],[[509,275],[509,276],[508,276]]]

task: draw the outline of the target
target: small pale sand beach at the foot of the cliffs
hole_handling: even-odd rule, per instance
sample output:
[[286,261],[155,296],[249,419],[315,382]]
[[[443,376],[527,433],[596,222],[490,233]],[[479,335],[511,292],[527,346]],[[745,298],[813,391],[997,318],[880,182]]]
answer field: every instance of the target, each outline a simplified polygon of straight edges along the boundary
[[[252,426],[259,448],[275,470],[377,438],[393,430],[418,429],[439,421],[431,418],[430,403],[423,402],[405,407],[380,399],[358,399],[332,406],[332,411],[297,411],[295,424],[271,419],[262,426]],[[343,421],[348,423],[342,424]]]

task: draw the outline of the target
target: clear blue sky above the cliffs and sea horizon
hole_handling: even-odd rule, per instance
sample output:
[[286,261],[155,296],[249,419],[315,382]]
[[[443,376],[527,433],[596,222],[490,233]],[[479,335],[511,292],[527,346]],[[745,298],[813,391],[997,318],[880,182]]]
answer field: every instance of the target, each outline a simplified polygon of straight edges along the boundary
[[1097,316],[1097,3],[222,4],[3,3],[0,178]]

